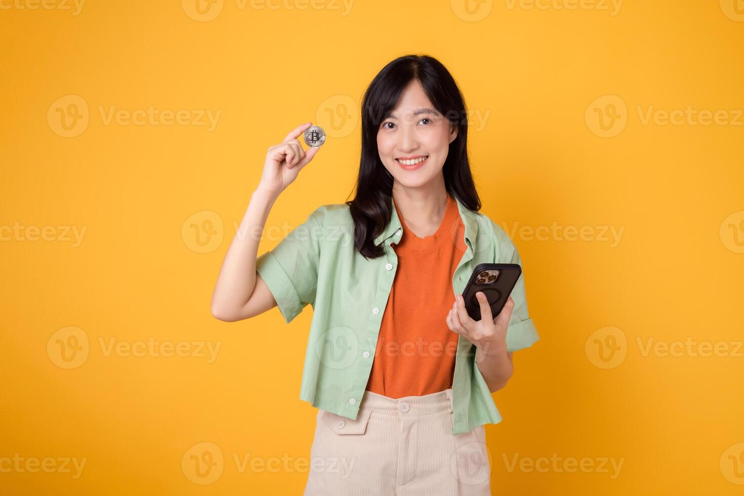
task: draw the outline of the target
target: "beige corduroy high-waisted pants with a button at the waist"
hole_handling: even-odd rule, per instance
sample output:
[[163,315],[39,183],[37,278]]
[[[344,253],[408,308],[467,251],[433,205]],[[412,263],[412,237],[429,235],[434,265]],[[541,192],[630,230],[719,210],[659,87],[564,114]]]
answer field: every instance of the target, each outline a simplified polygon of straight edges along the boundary
[[304,496],[490,495],[485,431],[452,435],[452,388],[365,391],[356,420],[318,410]]

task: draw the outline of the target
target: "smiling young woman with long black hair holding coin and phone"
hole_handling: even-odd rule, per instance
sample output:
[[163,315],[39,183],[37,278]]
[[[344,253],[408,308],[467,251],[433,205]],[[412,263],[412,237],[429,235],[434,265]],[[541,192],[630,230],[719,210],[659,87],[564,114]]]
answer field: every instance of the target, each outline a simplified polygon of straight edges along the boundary
[[278,306],[289,323],[312,304],[305,495],[490,495],[484,424],[501,421],[491,393],[538,335],[524,277],[496,318],[482,292],[481,320],[465,310],[475,266],[521,260],[478,212],[461,92],[432,57],[388,63],[362,100],[354,199],[318,207],[257,257],[269,210],[318,153],[297,139],[308,126],[269,148],[212,313],[238,321]]

